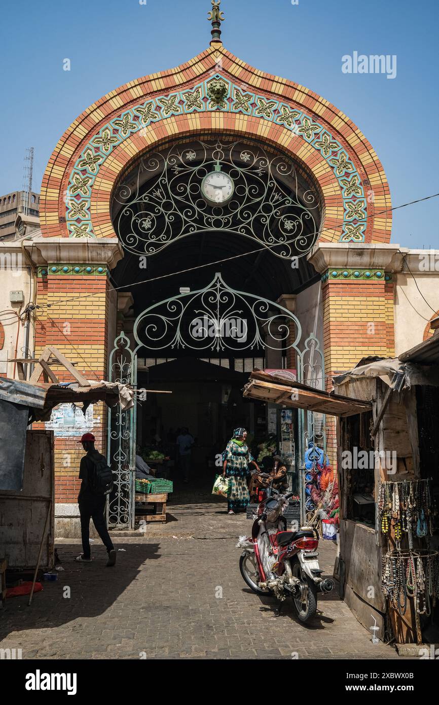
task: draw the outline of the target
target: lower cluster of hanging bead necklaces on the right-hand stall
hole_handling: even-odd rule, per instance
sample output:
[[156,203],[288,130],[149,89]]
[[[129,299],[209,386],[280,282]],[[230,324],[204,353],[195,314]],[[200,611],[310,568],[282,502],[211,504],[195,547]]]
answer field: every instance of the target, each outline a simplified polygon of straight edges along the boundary
[[430,615],[439,598],[439,553],[419,548],[416,551],[389,551],[383,556],[382,589],[395,609],[404,615],[407,598],[414,598],[416,612]]

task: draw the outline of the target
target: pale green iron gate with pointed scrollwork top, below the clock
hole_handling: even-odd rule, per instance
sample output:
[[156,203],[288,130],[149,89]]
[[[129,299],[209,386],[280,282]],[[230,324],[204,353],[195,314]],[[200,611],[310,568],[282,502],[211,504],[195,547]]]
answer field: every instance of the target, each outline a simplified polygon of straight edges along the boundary
[[[203,289],[175,295],[145,309],[135,321],[133,336],[137,343],[134,350],[124,333],[116,338],[110,355],[110,381],[137,386],[137,353],[141,348],[153,355],[164,350],[190,350],[196,357],[209,353],[240,357],[245,350],[261,354],[271,348],[294,351],[297,381],[323,388],[323,351],[316,336],[311,333],[301,348],[302,326],[292,312],[276,302],[230,288],[218,273]],[[324,421],[319,431],[312,412],[299,410],[298,424],[296,467],[302,477],[305,444],[323,434]],[[322,440],[324,443],[324,434]],[[112,528],[134,525],[135,445],[135,408],[123,413],[111,411],[108,455],[116,474],[108,513]]]

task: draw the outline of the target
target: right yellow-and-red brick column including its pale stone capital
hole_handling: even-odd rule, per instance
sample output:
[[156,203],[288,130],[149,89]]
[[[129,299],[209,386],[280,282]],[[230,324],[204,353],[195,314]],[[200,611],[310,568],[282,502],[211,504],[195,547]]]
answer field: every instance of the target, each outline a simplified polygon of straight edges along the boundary
[[[397,245],[319,243],[309,261],[322,276],[326,390],[336,374],[363,357],[395,354],[392,271]],[[335,419],[326,419],[327,448],[336,459]]]

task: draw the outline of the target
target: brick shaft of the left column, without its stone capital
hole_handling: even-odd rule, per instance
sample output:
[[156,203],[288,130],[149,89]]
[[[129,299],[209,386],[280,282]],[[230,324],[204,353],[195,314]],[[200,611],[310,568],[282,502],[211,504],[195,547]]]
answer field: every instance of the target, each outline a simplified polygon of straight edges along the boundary
[[[78,271],[75,271],[78,270]],[[91,381],[107,377],[109,281],[105,264],[40,266],[37,279],[36,357],[54,345]],[[52,367],[60,381],[72,381],[63,367]],[[97,448],[106,453],[106,405],[93,408]],[[55,501],[77,501],[83,455],[78,438],[55,435]]]

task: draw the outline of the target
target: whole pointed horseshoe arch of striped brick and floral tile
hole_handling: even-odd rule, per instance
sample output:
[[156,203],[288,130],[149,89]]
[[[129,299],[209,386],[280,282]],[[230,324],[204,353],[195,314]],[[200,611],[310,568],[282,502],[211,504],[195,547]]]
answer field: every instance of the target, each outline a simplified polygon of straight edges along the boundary
[[[219,101],[208,94],[215,80],[226,87]],[[218,44],[121,87],[70,126],[44,175],[43,234],[59,235],[61,223],[70,237],[113,235],[111,189],[128,163],[166,137],[209,130],[268,140],[301,161],[325,199],[321,239],[390,240],[390,212],[374,218],[390,207],[387,181],[358,128],[321,97],[248,67]]]

